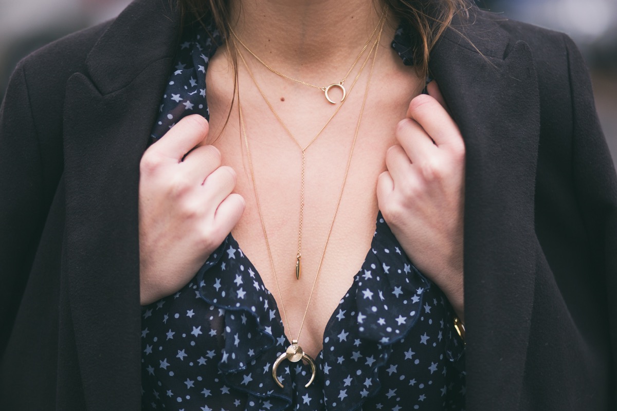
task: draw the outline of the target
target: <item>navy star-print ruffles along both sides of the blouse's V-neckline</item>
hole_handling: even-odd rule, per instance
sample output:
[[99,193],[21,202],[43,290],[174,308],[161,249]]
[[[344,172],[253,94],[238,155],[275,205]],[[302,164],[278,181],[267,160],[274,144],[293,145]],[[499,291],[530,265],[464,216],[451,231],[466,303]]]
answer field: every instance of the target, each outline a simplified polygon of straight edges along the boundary
[[[387,262],[379,258],[381,253],[389,254]],[[217,274],[210,275],[211,270]],[[270,406],[270,411],[286,409],[294,398],[300,404],[297,398],[305,391],[315,396],[320,384],[323,384],[323,402],[311,404],[310,409],[317,406],[321,409],[359,409],[381,390],[379,368],[387,364],[392,344],[405,338],[416,324],[423,309],[424,293],[432,287],[432,283],[400,250],[399,243],[379,214],[371,250],[326,326],[323,350],[315,359],[318,368],[315,382],[305,389],[308,367],[284,363],[279,368],[284,383],[281,389],[271,377],[271,366],[289,344],[284,337],[283,322],[275,299],[231,234],[199,271],[197,282],[201,297],[225,310],[225,349],[218,369],[228,384],[249,394],[247,410],[263,409],[265,404]],[[348,299],[351,301],[346,303]],[[351,312],[347,314],[348,311]],[[331,327],[332,322],[341,324]],[[336,334],[331,331],[333,328],[342,332]],[[345,386],[350,391],[353,388],[358,391],[355,394],[350,392],[349,396],[341,395],[342,381],[329,377],[330,370],[338,365],[339,356],[346,352],[353,352],[366,362],[362,367],[357,360],[357,367],[354,363],[346,366],[352,383],[347,381]],[[450,360],[462,355],[462,349],[452,352],[454,354],[447,354]],[[365,365],[369,362],[370,372],[367,373]],[[361,368],[362,372],[359,371]],[[359,391],[367,380],[370,391]],[[255,407],[249,407],[250,404]],[[304,407],[300,405],[299,409]]]

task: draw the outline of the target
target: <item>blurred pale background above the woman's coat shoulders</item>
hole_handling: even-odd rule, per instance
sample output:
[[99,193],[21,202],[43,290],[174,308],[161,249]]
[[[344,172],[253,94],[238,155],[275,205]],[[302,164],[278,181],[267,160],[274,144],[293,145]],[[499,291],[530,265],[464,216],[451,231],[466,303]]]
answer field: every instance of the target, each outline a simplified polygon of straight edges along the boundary
[[[0,99],[25,55],[117,15],[130,0],[0,0]],[[482,9],[564,31],[591,70],[598,115],[617,163],[617,0],[476,0]]]

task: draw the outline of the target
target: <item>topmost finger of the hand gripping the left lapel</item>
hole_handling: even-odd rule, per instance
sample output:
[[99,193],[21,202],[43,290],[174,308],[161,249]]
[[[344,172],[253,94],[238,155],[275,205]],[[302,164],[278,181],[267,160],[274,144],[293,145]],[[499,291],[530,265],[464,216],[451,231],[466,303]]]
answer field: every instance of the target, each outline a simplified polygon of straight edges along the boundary
[[165,136],[152,144],[148,151],[174,161],[182,161],[184,155],[201,143],[208,135],[208,121],[199,114],[184,117]]

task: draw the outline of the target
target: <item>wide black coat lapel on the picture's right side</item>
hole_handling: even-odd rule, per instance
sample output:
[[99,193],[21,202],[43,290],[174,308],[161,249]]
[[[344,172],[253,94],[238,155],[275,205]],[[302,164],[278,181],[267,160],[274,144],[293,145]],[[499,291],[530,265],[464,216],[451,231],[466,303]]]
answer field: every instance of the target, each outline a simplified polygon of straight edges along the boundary
[[467,408],[516,410],[537,253],[536,70],[527,44],[509,44],[486,17],[455,28],[434,49],[431,71],[466,147]]

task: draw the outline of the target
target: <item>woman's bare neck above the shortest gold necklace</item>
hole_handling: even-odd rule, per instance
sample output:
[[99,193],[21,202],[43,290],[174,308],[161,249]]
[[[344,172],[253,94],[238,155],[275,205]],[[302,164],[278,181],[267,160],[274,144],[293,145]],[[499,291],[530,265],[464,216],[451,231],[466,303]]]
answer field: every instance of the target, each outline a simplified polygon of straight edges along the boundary
[[[231,24],[273,67],[308,75],[344,73],[375,29],[381,7],[372,0],[236,0]],[[382,43],[389,42],[390,31],[386,23]]]

